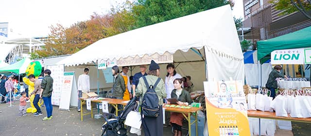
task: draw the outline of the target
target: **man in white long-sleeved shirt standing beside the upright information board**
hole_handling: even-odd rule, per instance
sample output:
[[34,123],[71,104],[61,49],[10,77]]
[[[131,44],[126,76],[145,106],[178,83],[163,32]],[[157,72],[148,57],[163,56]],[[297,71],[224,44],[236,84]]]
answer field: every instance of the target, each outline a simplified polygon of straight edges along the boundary
[[[84,68],[84,73],[78,78],[78,98],[82,97],[82,93],[88,93],[90,91],[90,83],[89,83],[89,69]],[[78,112],[81,111],[81,102],[78,101]]]

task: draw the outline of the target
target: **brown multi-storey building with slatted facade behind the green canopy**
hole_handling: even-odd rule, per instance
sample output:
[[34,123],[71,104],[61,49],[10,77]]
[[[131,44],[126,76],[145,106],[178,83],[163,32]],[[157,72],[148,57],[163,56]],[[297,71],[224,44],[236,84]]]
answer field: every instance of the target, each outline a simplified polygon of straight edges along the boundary
[[289,34],[311,26],[311,20],[300,12],[290,15],[281,15],[276,10],[275,4],[270,0],[243,0],[244,21],[243,27],[250,28],[244,33],[244,39],[254,42],[271,39],[284,34]]

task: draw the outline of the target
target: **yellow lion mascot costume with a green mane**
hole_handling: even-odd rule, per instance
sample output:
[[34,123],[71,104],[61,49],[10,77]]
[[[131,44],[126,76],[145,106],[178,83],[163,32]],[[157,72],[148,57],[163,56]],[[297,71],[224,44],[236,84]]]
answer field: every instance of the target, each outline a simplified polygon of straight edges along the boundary
[[[27,76],[35,75],[35,78],[38,78],[38,76],[41,74],[41,71],[42,71],[42,67],[41,67],[40,62],[38,62],[38,61],[31,62],[26,69],[26,75]],[[29,86],[28,94],[30,94],[31,92],[34,91],[34,89],[35,89],[35,83],[34,82],[31,82],[27,77],[23,77],[23,82],[24,82],[24,84]],[[35,95],[32,95],[30,97],[31,107],[27,108],[27,110],[26,110],[27,113],[36,113],[37,112],[37,110],[35,109],[34,103],[33,103],[34,99],[35,99]],[[38,105],[40,107],[40,105],[41,105],[40,102],[38,102]]]

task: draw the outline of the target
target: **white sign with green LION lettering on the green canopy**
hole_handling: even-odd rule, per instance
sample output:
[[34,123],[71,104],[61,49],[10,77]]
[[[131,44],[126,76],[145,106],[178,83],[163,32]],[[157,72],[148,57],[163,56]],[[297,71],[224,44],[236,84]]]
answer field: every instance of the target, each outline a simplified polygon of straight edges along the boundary
[[303,49],[276,50],[271,52],[271,64],[304,64]]

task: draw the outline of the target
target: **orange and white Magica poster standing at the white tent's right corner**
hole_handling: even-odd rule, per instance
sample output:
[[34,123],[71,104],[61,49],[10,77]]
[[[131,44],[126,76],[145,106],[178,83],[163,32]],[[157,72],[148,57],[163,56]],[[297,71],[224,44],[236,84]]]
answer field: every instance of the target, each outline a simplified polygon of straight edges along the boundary
[[250,136],[242,81],[204,82],[209,136]]

